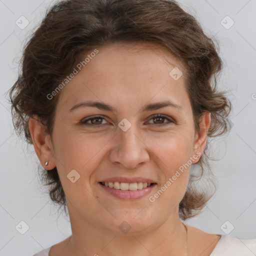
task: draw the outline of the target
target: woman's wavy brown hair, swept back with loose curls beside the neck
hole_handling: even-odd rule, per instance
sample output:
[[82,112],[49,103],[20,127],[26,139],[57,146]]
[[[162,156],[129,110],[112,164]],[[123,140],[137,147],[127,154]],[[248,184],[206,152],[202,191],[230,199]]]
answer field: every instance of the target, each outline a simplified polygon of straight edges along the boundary
[[[207,137],[227,133],[231,102],[225,91],[216,88],[216,77],[223,65],[218,48],[198,21],[174,0],[63,0],[52,5],[24,45],[18,78],[9,89],[16,133],[32,144],[28,123],[30,117],[37,115],[51,136],[61,92],[51,100],[47,94],[63,81],[84,53],[114,42],[154,42],[167,48],[184,64],[195,130],[199,130],[202,114],[210,112]],[[203,167],[209,167],[207,147],[208,141],[196,163],[201,168],[199,178]],[[49,185],[53,203],[64,205],[65,209],[65,194],[56,167],[46,170],[38,166],[38,170],[42,183]],[[183,220],[200,213],[213,195],[194,186],[197,176],[190,174],[179,203],[179,217]]]

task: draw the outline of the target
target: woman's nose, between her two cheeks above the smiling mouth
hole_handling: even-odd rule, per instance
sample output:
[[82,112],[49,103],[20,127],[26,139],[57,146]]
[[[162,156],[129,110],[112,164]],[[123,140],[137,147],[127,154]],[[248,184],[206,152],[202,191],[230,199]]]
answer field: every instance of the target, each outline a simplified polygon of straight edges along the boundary
[[135,124],[126,131],[118,127],[117,134],[114,136],[114,147],[109,154],[109,159],[121,168],[134,169],[149,160],[147,146],[133,127]]

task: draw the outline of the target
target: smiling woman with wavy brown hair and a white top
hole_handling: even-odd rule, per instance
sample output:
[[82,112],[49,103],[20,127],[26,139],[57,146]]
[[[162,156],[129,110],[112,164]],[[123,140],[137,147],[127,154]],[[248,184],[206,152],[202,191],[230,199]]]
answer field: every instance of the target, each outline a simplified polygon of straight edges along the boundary
[[48,10],[10,98],[72,234],[36,256],[254,255],[256,239],[181,221],[212,196],[193,187],[190,167],[203,171],[207,137],[228,131],[221,63],[173,0],[67,0]]

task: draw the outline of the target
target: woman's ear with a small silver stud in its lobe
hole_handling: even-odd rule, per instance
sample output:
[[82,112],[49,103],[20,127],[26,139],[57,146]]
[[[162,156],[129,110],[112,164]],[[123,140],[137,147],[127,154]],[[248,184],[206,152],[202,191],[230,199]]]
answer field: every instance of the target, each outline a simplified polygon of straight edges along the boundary
[[[29,118],[29,131],[33,140],[35,153],[37,154],[43,168],[53,169],[55,165],[53,147],[49,134],[45,133],[45,127],[39,121],[37,115]],[[45,166],[45,162],[48,164]]]

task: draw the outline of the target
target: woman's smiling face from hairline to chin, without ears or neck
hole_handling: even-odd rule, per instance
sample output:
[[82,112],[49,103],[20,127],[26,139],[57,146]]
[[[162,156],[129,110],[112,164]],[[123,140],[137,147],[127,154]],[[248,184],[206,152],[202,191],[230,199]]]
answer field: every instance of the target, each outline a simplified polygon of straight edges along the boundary
[[[58,92],[49,161],[57,167],[71,222],[139,233],[178,219],[189,164],[203,148],[184,70],[167,50],[143,43],[97,49]],[[86,101],[98,103],[74,107]],[[161,107],[167,101],[172,105]],[[104,181],[116,182],[115,188]],[[145,182],[154,184],[138,189]]]

